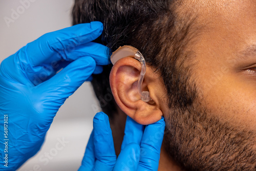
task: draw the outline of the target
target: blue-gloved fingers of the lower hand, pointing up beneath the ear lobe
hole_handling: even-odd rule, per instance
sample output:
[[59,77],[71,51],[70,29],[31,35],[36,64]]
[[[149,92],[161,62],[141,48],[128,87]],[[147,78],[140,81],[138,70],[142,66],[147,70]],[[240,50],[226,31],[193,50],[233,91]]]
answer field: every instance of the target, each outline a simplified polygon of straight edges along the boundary
[[97,113],[78,171],[158,170],[164,127],[163,118],[143,126],[127,116],[121,153],[116,159],[109,118],[103,112]]

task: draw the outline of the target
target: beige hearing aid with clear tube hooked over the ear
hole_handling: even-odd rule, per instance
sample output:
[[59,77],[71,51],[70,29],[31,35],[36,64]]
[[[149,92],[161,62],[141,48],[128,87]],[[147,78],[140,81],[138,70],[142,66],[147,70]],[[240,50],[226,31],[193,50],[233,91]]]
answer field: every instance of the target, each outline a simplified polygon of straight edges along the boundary
[[150,92],[148,92],[148,91],[141,92],[142,82],[144,79],[144,75],[146,73],[146,62],[145,62],[143,55],[139,52],[139,50],[132,46],[119,47],[115,52],[113,52],[113,54],[110,57],[110,60],[111,60],[112,64],[114,65],[116,63],[116,61],[118,61],[121,58],[127,57],[127,56],[134,57],[135,59],[138,59],[141,63],[141,72],[140,72],[140,77],[139,77],[139,81],[138,81],[138,92],[140,94],[141,100],[148,102],[151,100]]

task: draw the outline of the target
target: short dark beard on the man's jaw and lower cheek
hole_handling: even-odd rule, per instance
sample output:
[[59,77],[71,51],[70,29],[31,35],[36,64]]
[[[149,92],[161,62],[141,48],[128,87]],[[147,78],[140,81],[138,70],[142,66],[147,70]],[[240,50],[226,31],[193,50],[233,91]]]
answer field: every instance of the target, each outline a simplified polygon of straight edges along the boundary
[[163,144],[184,170],[256,170],[256,134],[201,107],[165,116]]

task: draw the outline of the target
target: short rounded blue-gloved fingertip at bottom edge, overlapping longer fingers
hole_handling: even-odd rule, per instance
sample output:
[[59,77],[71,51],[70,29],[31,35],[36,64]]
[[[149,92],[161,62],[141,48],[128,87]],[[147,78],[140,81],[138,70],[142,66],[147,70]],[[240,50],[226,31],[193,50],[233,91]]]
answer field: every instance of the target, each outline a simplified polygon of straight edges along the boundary
[[140,146],[137,143],[126,145],[119,154],[113,171],[137,170],[140,160]]

